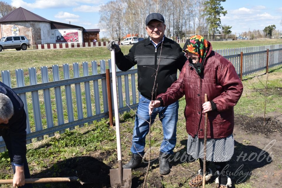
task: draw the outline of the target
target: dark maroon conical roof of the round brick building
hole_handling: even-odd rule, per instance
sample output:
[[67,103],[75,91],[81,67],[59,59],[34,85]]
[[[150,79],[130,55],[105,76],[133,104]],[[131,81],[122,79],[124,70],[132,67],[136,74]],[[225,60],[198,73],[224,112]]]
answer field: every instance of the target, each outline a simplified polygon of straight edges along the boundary
[[17,8],[14,11],[11,11],[6,16],[3,16],[0,19],[0,22],[11,22],[11,21],[44,21],[50,22],[49,20],[34,14],[31,11],[28,11],[22,7]]

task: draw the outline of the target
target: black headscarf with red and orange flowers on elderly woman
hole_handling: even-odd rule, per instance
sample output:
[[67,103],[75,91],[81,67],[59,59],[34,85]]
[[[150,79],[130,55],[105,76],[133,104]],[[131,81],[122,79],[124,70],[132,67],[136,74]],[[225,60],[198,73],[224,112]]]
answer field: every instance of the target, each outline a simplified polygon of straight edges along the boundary
[[186,41],[182,50],[184,52],[191,52],[198,55],[199,63],[202,63],[209,51],[209,44],[201,35],[194,35]]

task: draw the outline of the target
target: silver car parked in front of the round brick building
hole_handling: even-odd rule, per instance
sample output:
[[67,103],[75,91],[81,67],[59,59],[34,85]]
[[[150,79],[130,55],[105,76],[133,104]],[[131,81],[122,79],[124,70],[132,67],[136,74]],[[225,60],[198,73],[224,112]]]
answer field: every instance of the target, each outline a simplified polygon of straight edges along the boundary
[[16,48],[19,50],[26,50],[30,43],[25,36],[4,36],[0,39],[0,52],[3,49]]

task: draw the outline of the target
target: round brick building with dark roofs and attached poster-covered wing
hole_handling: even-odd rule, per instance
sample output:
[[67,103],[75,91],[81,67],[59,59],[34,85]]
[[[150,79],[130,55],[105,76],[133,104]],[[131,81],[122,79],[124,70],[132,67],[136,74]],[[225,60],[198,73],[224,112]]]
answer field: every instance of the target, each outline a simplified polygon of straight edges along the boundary
[[47,20],[22,7],[0,19],[0,37],[24,35],[32,45],[99,41],[100,29]]

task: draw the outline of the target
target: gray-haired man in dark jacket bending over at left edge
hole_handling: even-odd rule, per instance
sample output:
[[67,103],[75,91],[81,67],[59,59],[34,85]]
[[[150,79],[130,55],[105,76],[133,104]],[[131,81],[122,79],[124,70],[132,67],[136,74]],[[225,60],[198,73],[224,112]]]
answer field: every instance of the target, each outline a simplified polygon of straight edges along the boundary
[[0,136],[8,149],[14,171],[13,187],[30,188],[25,178],[30,178],[26,160],[26,113],[21,98],[0,82]]

